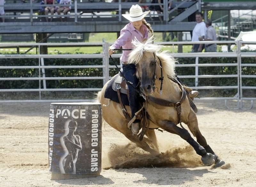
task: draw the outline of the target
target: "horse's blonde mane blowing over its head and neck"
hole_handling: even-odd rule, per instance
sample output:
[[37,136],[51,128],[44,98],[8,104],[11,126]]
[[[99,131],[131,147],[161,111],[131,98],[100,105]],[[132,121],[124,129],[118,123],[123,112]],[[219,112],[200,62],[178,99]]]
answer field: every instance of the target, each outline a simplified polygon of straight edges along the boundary
[[148,38],[145,42],[140,42],[136,38],[132,41],[134,46],[132,52],[129,54],[128,62],[137,64],[143,57],[143,52],[155,52],[156,56],[161,60],[163,70],[168,77],[175,78],[175,63],[177,61],[173,58],[169,51],[161,51],[162,45],[153,44],[153,36]]

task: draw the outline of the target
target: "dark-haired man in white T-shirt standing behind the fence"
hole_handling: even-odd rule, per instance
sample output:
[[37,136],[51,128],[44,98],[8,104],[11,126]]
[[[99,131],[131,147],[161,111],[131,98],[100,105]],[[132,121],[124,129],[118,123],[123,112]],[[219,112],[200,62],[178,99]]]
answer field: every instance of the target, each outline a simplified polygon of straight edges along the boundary
[[[203,22],[203,14],[201,12],[196,13],[196,22],[197,24],[193,29],[191,41],[199,41],[199,37],[204,38],[206,34],[206,26],[205,23]],[[193,44],[192,52],[202,52],[203,45],[204,44]]]

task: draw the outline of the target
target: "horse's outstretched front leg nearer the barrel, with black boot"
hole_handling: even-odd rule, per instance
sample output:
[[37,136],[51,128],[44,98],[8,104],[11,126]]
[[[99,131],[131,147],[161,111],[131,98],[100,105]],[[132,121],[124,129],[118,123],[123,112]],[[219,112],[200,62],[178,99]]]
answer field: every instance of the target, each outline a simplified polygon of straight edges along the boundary
[[202,162],[210,166],[214,164],[214,155],[212,153],[207,153],[203,146],[199,145],[189,134],[186,129],[178,127],[175,123],[168,120],[161,120],[159,123],[159,127],[164,129],[165,131],[171,132],[173,134],[179,135],[181,138],[186,140],[196,151],[197,154],[202,156]]

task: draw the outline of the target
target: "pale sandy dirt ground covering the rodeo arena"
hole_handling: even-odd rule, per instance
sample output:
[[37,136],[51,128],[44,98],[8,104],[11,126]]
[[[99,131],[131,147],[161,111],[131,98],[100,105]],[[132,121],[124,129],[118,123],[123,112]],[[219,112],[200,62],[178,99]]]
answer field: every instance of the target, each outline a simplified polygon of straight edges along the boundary
[[160,155],[136,148],[108,124],[102,128],[102,171],[95,178],[50,180],[50,103],[0,104],[0,186],[256,186],[256,109],[228,110],[196,101],[199,128],[226,161],[213,169],[177,135],[157,131]]

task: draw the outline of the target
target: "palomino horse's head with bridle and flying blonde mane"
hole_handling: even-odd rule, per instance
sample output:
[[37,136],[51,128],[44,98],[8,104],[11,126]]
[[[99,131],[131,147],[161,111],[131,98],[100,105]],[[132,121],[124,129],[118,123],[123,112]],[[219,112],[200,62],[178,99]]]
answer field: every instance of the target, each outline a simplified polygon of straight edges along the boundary
[[[152,44],[152,37],[150,37],[145,42],[140,42],[135,39],[135,41],[132,42],[134,45],[134,48],[132,52],[129,55],[129,63],[135,63],[137,67],[137,72],[140,78],[140,90],[145,95],[153,94],[155,91],[155,79],[156,77],[160,77],[159,70],[159,58],[164,60],[164,64],[166,61],[167,63],[172,61],[171,66],[167,65],[169,70],[165,71],[168,76],[171,74],[170,77],[173,77],[175,75],[174,73],[174,64],[175,60],[173,60],[172,56],[170,54],[167,54],[166,52],[161,52],[160,50],[162,48],[161,45]],[[169,59],[169,60],[168,60]],[[171,73],[169,71],[172,71]]]

